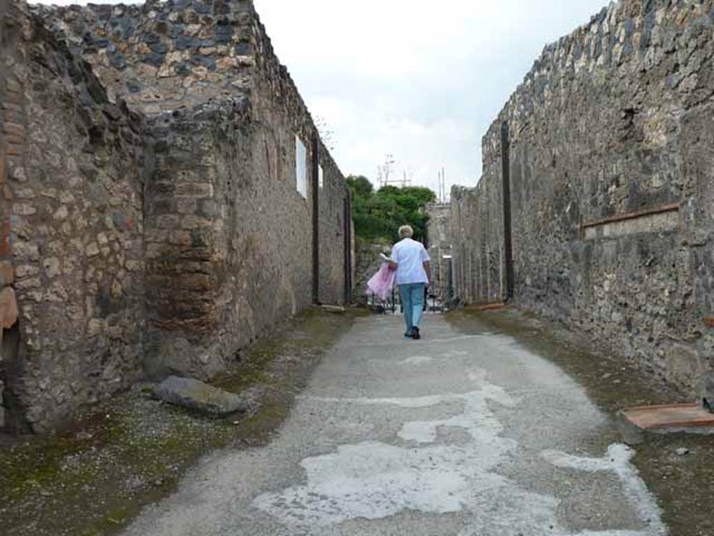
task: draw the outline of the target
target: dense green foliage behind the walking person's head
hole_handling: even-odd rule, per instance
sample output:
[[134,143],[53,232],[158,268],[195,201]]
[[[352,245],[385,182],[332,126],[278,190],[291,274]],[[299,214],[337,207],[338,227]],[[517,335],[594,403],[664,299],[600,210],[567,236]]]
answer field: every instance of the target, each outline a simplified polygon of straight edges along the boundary
[[429,219],[426,205],[436,201],[430,189],[386,186],[375,192],[366,177],[348,177],[347,185],[357,237],[398,242],[399,227],[411,225],[414,239],[423,239]]

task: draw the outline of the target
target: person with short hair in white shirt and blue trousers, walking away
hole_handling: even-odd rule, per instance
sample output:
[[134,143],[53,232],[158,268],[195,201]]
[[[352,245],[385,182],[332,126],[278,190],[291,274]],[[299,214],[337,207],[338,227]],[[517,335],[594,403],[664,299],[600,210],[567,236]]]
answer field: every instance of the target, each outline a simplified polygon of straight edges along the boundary
[[405,225],[399,228],[401,242],[394,244],[392,249],[391,268],[396,269],[396,284],[399,287],[406,332],[404,337],[421,339],[419,323],[424,306],[424,292],[431,284],[431,268],[429,254],[421,242],[413,237],[414,229]]

